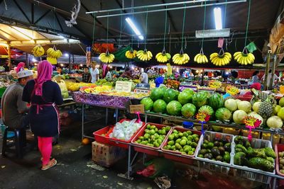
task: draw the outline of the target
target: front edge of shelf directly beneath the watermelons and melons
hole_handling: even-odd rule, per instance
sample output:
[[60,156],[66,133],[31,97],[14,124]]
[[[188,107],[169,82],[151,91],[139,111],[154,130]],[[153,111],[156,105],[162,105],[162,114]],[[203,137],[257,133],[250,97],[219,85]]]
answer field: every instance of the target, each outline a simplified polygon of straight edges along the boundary
[[[190,122],[198,123],[198,120],[193,120],[193,119],[190,119],[190,118],[182,118],[182,117],[179,117],[179,116],[172,116],[172,115],[152,113],[152,112],[143,113],[141,115],[145,115],[145,122],[147,122],[148,117],[156,117],[156,118],[163,118],[164,120],[171,120],[171,121],[176,121],[176,122],[190,121]],[[244,125],[238,125],[238,124],[235,124],[235,123],[223,123],[223,122],[209,121],[204,125],[228,127],[228,128],[241,129],[241,130],[249,130],[248,128],[244,127]],[[265,128],[256,128],[253,131],[271,133],[271,142],[273,140],[273,134],[284,135],[283,130],[269,130],[269,129],[265,129]]]

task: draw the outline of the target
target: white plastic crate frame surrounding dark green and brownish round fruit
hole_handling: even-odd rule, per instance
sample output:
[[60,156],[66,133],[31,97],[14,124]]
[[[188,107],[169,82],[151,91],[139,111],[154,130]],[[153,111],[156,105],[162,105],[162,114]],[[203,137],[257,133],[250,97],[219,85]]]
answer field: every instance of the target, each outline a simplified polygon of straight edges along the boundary
[[[231,142],[231,157],[233,156],[233,145],[232,145],[232,142],[233,142],[233,138],[234,138],[234,135],[232,134],[226,134],[226,133],[220,133],[220,132],[209,132],[209,131],[206,131],[204,133],[204,136],[203,136],[203,139],[202,141],[200,142],[200,144],[197,146],[197,151],[196,151],[196,154],[195,154],[195,158],[196,159],[199,159],[200,161],[204,160],[204,158],[200,158],[198,157],[198,154],[201,150],[201,146],[204,142],[204,139],[207,139],[209,142],[213,142],[214,138],[215,137],[218,137],[218,138],[221,138],[221,139],[227,139],[229,142]],[[209,162],[200,162],[200,166],[204,167],[204,168],[207,168],[211,171],[222,171],[222,173],[228,173],[230,168],[227,167],[227,166],[231,166],[232,164],[232,159],[230,160],[230,163],[225,163],[225,162],[222,162],[222,161],[214,161],[214,160],[211,160],[211,159],[206,159],[206,161],[209,161]],[[219,165],[216,165],[216,162],[218,162]]]

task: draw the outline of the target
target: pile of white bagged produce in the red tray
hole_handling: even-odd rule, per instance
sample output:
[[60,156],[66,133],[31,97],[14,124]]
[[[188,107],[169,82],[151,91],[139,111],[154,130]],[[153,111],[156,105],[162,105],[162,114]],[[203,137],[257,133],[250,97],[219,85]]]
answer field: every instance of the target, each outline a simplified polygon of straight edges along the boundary
[[124,122],[116,122],[116,125],[109,134],[109,137],[129,140],[142,125],[143,122],[136,122],[136,119],[131,121],[124,120]]

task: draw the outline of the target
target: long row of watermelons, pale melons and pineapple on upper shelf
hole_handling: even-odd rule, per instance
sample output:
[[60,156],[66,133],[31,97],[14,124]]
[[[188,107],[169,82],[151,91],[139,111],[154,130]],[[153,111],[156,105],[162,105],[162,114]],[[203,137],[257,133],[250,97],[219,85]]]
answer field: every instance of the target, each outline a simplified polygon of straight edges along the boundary
[[153,88],[150,97],[143,98],[141,104],[146,111],[166,113],[168,115],[194,118],[196,113],[206,113],[211,120],[234,122],[244,125],[244,118],[249,115],[261,120],[261,126],[282,129],[284,120],[284,98],[276,104],[273,96],[258,93],[250,102],[229,98],[226,101],[219,93],[207,91],[195,93],[190,88],[182,92],[172,88]]

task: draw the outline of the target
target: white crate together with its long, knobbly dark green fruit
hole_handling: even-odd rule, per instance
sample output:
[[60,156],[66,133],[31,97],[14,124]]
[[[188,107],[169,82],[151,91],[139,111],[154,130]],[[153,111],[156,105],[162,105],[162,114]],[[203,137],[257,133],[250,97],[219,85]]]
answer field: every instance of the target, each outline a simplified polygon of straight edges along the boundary
[[[234,176],[244,177],[261,183],[271,182],[270,176],[261,174],[275,174],[276,155],[270,141],[252,139],[249,142],[248,137],[234,136],[232,152],[234,154],[232,157],[233,166],[245,169],[234,169]],[[258,171],[258,173],[251,171]]]

